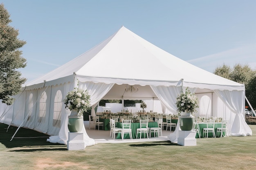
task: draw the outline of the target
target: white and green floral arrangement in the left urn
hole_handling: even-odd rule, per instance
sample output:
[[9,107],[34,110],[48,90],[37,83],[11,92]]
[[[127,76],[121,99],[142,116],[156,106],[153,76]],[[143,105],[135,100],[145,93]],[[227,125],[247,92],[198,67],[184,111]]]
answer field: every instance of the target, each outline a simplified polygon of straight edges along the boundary
[[76,109],[77,115],[83,116],[83,113],[90,108],[90,95],[88,95],[87,91],[74,88],[73,91],[67,93],[63,102],[65,102],[65,108]]

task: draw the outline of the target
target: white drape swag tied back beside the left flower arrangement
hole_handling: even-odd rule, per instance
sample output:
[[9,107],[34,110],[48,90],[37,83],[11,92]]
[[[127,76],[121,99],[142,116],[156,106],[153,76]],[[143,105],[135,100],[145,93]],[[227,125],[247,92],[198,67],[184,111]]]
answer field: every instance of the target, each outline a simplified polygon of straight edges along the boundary
[[108,91],[114,86],[114,83],[112,84],[106,84],[106,83],[94,83],[94,82],[79,82],[79,88],[87,90],[88,94],[91,96],[91,106],[92,111],[91,115],[95,116],[95,107],[97,106],[97,103],[104,97]]

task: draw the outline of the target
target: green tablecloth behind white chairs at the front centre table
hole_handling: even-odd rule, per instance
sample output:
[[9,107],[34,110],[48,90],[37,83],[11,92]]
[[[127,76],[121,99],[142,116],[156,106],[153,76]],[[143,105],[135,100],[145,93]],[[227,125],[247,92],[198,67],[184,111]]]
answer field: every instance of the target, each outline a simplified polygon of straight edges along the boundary
[[[122,128],[122,123],[121,122],[117,122],[117,127],[118,128]],[[139,128],[139,123],[132,123],[131,124],[131,128],[132,128],[132,139],[136,139],[136,133],[137,133],[137,128]],[[158,127],[157,122],[148,122],[148,127],[149,128],[153,128],[153,127]],[[151,134],[151,136],[154,136]],[[155,135],[157,137],[157,135]],[[144,134],[141,134],[141,138],[144,138]],[[121,139],[121,133],[117,134],[116,139]],[[129,134],[124,134],[124,139],[130,139]]]

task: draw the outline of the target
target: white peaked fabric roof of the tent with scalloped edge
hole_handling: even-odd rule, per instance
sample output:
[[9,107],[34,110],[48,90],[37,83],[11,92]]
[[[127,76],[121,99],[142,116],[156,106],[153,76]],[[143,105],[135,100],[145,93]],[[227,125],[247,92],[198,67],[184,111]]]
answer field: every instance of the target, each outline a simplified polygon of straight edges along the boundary
[[184,86],[244,90],[243,84],[193,66],[139,37],[124,26],[108,39],[70,62],[26,84],[38,88],[72,81]]

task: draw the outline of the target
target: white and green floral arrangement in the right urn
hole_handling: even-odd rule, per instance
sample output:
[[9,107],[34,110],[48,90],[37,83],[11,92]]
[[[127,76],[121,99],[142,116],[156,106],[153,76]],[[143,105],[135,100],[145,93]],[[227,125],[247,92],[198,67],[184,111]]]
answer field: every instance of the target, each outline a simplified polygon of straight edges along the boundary
[[176,98],[177,112],[181,113],[187,110],[189,113],[195,113],[196,108],[198,108],[198,97],[195,93],[191,93],[188,88],[186,88],[185,93],[182,92]]

